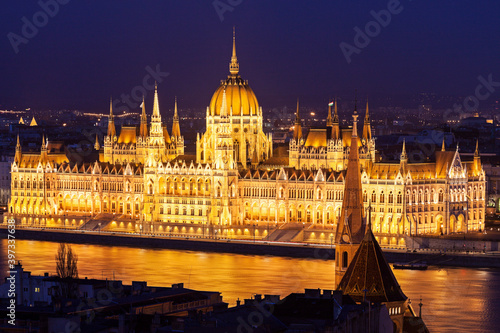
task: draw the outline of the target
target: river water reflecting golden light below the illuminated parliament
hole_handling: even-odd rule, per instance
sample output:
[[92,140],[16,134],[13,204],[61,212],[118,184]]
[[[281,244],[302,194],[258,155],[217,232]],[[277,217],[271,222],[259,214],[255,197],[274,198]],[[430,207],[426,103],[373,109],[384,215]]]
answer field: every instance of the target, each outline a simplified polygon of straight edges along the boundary
[[[7,241],[0,244],[0,269],[6,272]],[[183,282],[192,289],[220,291],[231,305],[253,294],[286,296],[304,288],[334,287],[334,262],[328,260],[72,246],[79,257],[80,277],[147,281],[152,286]],[[54,274],[57,247],[57,243],[17,240],[16,259],[32,274]],[[431,332],[498,332],[499,270],[430,268],[394,273],[417,313],[422,298],[422,317]]]

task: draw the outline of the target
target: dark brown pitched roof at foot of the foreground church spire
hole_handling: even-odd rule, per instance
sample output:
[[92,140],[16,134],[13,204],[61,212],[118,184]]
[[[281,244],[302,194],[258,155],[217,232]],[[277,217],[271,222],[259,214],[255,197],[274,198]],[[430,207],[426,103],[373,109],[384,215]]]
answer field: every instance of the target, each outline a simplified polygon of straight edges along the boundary
[[371,228],[365,234],[351,264],[339,283],[339,290],[356,302],[397,302],[407,299],[385,260]]

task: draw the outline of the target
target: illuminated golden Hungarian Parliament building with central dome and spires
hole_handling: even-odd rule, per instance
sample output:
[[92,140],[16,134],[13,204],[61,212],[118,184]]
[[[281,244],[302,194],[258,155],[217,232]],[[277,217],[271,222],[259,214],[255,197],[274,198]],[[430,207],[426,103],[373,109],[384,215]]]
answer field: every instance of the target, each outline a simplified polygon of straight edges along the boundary
[[341,127],[330,103],[326,126],[304,135],[297,105],[288,151],[278,154],[263,131],[262,107],[239,75],[233,36],[229,75],[206,109],[196,155],[184,154],[177,102],[171,131],[162,123],[155,89],[150,121],[143,103],[139,126],[118,132],[111,107],[93,162],[70,162],[45,137],[39,153],[26,153],[18,138],[4,216],[47,228],[98,225],[227,238],[269,239],[296,227],[300,240],[329,243],[341,216],[349,151],[359,149],[363,202],[382,244],[484,228],[485,173],[477,148],[471,161],[443,145],[432,162],[410,163],[403,143],[399,163],[380,162],[368,105],[362,124],[353,114],[353,126]]

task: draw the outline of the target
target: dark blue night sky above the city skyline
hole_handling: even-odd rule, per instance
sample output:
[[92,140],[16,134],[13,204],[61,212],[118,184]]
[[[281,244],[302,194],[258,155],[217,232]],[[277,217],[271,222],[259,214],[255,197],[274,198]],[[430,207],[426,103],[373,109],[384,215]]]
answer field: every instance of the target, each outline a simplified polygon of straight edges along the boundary
[[159,85],[164,107],[175,95],[205,107],[228,74],[233,25],[240,74],[263,107],[354,89],[471,95],[479,75],[500,81],[498,0],[401,0],[349,64],[339,44],[354,45],[353,29],[365,30],[370,11],[391,1],[220,2],[237,4],[223,21],[213,0],[70,0],[16,54],[8,34],[22,36],[22,17],[33,22],[41,7],[9,1],[0,16],[0,107],[106,111],[110,95],[130,93],[157,65],[170,73]]

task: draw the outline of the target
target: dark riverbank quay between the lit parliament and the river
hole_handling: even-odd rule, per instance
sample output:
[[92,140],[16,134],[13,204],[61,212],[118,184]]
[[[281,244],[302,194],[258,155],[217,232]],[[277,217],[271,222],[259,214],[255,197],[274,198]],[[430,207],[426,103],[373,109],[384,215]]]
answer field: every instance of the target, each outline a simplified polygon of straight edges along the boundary
[[[7,228],[0,227],[6,238]],[[269,242],[260,240],[234,240],[220,238],[161,237],[144,234],[94,232],[81,230],[56,230],[37,228],[16,229],[17,240],[39,240],[104,246],[137,248],[164,248],[187,251],[223,252],[244,255],[271,255],[279,257],[329,260],[335,258],[335,245],[298,242]],[[462,240],[463,242],[463,240]],[[461,249],[416,248],[414,250],[384,248],[386,260],[394,262],[426,262],[431,266],[472,268],[500,268],[500,252],[483,253]],[[20,258],[22,260],[22,258]]]

